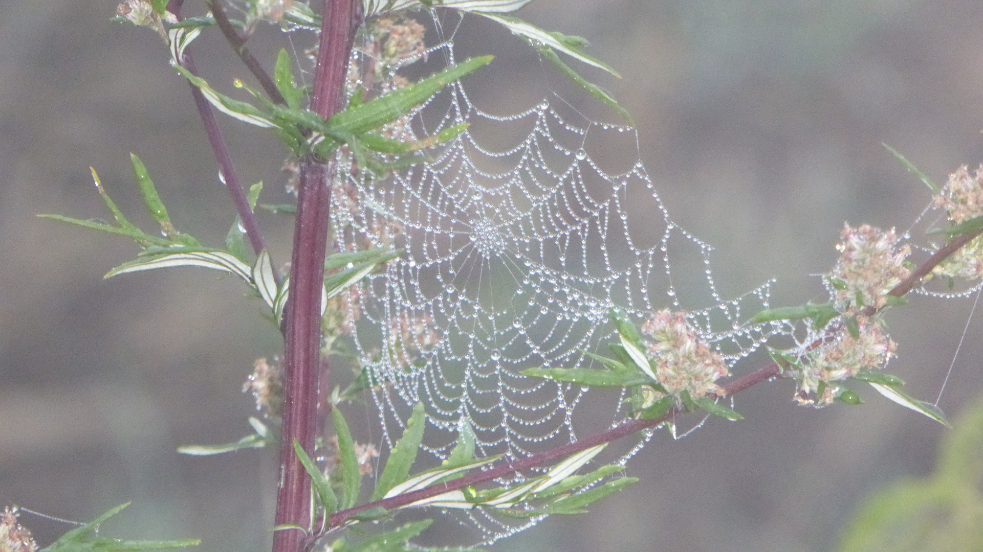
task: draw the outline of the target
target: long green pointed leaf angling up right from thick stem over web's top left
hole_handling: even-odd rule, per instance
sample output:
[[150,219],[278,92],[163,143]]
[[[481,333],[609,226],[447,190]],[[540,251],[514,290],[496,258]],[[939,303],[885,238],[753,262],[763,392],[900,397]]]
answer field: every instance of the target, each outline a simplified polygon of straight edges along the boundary
[[405,88],[394,90],[372,101],[349,107],[333,115],[325,124],[325,134],[347,140],[372,132],[406,115],[449,83],[454,83],[492,62],[492,56],[471,58]]

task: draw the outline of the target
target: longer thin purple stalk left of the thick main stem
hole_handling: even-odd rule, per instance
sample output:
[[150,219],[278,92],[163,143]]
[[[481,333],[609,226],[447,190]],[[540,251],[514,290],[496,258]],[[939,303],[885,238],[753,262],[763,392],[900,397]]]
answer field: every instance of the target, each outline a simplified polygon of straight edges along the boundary
[[[181,5],[183,3],[184,0],[171,0],[167,8],[175,16],[180,17]],[[181,65],[197,76],[198,68],[195,66],[195,58],[192,57],[190,50],[190,46],[185,50]],[[212,152],[215,154],[215,161],[217,161],[218,170],[221,171],[222,179],[225,181],[225,187],[232,195],[232,202],[235,203],[236,210],[239,211],[239,217],[243,222],[243,228],[246,229],[246,236],[249,238],[250,245],[253,246],[256,254],[260,254],[260,251],[266,248],[265,241],[262,238],[262,231],[260,230],[260,222],[250,207],[249,200],[246,198],[245,189],[243,188],[242,181],[239,179],[239,173],[236,172],[236,167],[232,163],[232,154],[229,153],[229,147],[225,142],[225,137],[222,136],[222,129],[218,125],[218,119],[215,118],[215,112],[212,110],[208,100],[204,98],[202,90],[195,84],[188,84],[191,86],[191,94],[195,98],[195,106],[198,108],[198,114],[202,118],[204,133],[208,137],[208,143],[211,145]]]

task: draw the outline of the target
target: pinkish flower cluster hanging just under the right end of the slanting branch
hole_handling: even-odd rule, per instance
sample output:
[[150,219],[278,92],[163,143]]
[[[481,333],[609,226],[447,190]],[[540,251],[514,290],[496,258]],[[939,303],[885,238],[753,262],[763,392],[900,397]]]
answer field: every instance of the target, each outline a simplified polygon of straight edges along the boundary
[[[852,377],[860,370],[883,368],[889,359],[896,357],[897,344],[885,332],[880,318],[857,316],[857,327],[857,337],[850,335],[845,327],[840,328],[834,339],[805,355],[796,395],[800,404],[829,405],[839,390],[830,383]],[[824,389],[822,396],[810,399],[809,395],[820,387]]]

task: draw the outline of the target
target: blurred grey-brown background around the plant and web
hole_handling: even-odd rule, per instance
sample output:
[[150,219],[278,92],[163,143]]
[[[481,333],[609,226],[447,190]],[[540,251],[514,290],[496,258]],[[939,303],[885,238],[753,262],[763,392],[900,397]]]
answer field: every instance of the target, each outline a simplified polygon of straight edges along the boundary
[[[187,84],[151,31],[108,22],[114,7],[0,3],[0,502],[85,521],[133,501],[104,534],[264,550],[275,454],[175,453],[249,431],[242,382],[280,348],[260,305],[207,271],[103,280],[132,244],[34,216],[106,216],[92,165],[150,228],[130,151],[179,229],[217,244],[234,216]],[[536,0],[518,15],[585,36],[621,72],[602,83],[635,116],[674,219],[717,248],[728,297],[774,276],[776,304],[822,299],[809,275],[834,262],[844,220],[904,230],[915,219],[928,190],[881,142],[937,181],[983,161],[979,2]],[[255,38],[263,63],[277,39]],[[212,82],[247,77],[217,32],[193,48]],[[285,200],[282,148],[226,123],[244,180]],[[292,221],[261,221],[285,259]],[[889,317],[891,371],[912,394],[935,399],[970,305],[917,298]],[[971,322],[940,403],[951,415],[983,392],[981,328]],[[867,492],[930,469],[946,431],[863,396],[812,411],[791,404],[787,383],[750,390],[737,399],[743,421],[712,420],[677,442],[660,434],[629,464],[640,483],[495,548],[831,550]],[[23,521],[42,546],[69,528]]]

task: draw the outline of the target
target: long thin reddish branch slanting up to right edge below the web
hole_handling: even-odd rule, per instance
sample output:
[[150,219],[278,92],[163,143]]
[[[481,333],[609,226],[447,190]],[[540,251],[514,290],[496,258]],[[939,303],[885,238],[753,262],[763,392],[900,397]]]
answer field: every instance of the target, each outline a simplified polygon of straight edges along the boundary
[[[943,248],[939,248],[932,256],[925,260],[921,265],[911,271],[908,278],[897,284],[888,295],[895,297],[903,297],[908,292],[910,292],[918,283],[929,274],[933,268],[939,265],[943,260],[949,255],[953,254],[962,246],[965,246],[971,242],[974,238],[983,235],[983,230],[977,230],[974,232],[969,232],[956,236],[952,241],[950,241]],[[873,315],[877,313],[877,308],[867,307],[862,311],[866,315]],[[724,393],[723,397],[730,397],[736,393],[739,393],[749,387],[758,385],[759,383],[765,381],[771,381],[776,377],[781,376],[782,369],[775,362],[766,364],[744,376],[741,376],[734,381],[723,387]],[[376,500],[374,502],[368,502],[354,508],[349,508],[348,510],[341,510],[331,514],[327,527],[328,529],[341,526],[350,519],[352,516],[357,515],[360,512],[364,512],[371,508],[381,507],[386,510],[392,510],[395,508],[400,508],[424,500],[426,498],[431,498],[443,493],[463,489],[471,485],[478,483],[484,483],[497,479],[499,477],[506,476],[515,471],[521,469],[539,468],[543,466],[548,466],[554,464],[555,462],[562,460],[570,455],[576,454],[581,451],[585,451],[591,447],[608,443],[610,441],[619,439],[630,435],[636,431],[647,429],[650,427],[656,427],[659,424],[673,419],[676,415],[685,414],[685,411],[679,408],[674,408],[668,413],[653,419],[633,419],[626,421],[618,426],[612,427],[600,433],[596,433],[579,441],[568,443],[566,445],[550,449],[549,451],[539,453],[521,460],[517,460],[510,464],[505,464],[498,466],[497,468],[481,470],[474,473],[470,473],[463,477],[452,479],[450,481],[445,481],[443,483],[437,483],[423,489],[416,491],[396,495],[393,497],[385,498],[382,500]]]

